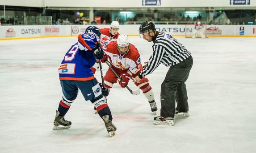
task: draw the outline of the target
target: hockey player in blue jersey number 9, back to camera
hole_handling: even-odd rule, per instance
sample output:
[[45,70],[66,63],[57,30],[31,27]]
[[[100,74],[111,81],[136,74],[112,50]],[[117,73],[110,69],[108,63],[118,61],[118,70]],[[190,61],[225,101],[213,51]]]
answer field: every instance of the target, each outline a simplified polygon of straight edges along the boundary
[[[53,129],[67,129],[71,121],[64,116],[75,101],[80,89],[84,99],[95,105],[98,114],[105,122],[105,127],[112,137],[116,127],[112,124],[112,114],[104,96],[108,95],[107,89],[102,89],[98,84],[91,67],[96,59],[101,59],[104,51],[100,45],[101,32],[99,28],[90,26],[78,36],[78,41],[67,51],[59,67],[59,80],[63,96],[56,110]],[[102,93],[102,91],[103,93]]]

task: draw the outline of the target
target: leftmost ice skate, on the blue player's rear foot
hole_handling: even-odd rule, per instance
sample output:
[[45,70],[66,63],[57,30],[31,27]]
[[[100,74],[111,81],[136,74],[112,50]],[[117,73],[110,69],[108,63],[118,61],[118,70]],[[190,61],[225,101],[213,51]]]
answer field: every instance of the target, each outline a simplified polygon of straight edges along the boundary
[[56,110],[55,120],[52,129],[68,129],[71,127],[71,121],[66,121],[63,116],[59,116],[59,111]]

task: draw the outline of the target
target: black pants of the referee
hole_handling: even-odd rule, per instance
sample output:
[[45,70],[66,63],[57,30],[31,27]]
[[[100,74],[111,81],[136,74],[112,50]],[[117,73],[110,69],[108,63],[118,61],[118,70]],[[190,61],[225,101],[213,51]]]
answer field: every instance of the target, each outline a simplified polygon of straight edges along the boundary
[[178,112],[189,111],[188,95],[185,82],[193,65],[190,56],[179,64],[169,68],[161,85],[161,117],[174,117],[177,102]]

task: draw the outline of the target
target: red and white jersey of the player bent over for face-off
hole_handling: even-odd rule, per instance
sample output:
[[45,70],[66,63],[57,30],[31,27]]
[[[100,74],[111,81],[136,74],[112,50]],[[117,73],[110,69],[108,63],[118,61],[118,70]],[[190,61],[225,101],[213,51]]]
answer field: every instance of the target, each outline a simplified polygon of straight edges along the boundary
[[137,76],[138,74],[136,73],[143,69],[140,62],[140,54],[133,44],[130,44],[129,52],[124,55],[118,51],[117,41],[110,41],[106,38],[102,38],[101,47],[105,54],[109,56],[111,66],[113,68],[127,71],[127,73],[132,77]]

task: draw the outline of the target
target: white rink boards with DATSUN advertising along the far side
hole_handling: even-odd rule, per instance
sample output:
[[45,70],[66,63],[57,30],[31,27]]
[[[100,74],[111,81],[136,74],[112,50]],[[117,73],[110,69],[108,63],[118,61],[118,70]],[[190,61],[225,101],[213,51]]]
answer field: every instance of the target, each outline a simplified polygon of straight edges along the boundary
[[[89,25],[21,25],[1,26],[0,40],[37,38],[37,37],[58,37],[78,36],[84,32]],[[105,28],[109,25],[97,25],[98,28]],[[137,25],[120,25],[119,33],[128,36],[138,36]],[[155,25],[157,31],[168,32],[172,36],[185,37],[185,25]],[[186,29],[193,32],[193,26]],[[256,37],[256,25],[207,25],[208,37]]]

